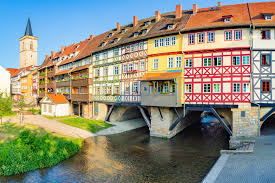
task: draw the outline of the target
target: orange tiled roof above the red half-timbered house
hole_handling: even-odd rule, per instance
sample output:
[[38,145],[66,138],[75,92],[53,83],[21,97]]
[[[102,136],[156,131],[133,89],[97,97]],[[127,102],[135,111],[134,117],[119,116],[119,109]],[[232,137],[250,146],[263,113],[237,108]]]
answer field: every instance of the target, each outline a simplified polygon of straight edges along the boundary
[[[224,16],[232,16],[230,22],[224,22]],[[247,4],[225,5],[210,8],[200,8],[192,15],[184,30],[207,28],[249,26],[250,17]]]

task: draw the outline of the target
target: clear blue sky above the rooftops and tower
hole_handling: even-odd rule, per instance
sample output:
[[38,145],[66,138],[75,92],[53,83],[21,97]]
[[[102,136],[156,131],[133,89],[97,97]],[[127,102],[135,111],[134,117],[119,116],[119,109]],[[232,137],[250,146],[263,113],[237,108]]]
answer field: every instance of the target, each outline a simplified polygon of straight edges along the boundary
[[19,67],[19,38],[24,36],[28,17],[38,37],[38,65],[45,55],[59,51],[61,46],[89,38],[160,13],[175,11],[177,4],[184,10],[270,0],[0,0],[0,65]]

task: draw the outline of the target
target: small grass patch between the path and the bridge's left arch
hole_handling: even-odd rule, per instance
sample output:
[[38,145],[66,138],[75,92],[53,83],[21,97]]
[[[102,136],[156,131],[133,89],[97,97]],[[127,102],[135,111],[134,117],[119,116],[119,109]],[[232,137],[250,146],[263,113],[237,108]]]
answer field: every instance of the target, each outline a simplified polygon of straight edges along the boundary
[[84,119],[79,117],[61,119],[58,121],[70,126],[81,128],[83,130],[86,130],[92,133],[96,133],[102,129],[113,126],[111,124],[104,123],[104,121],[101,121],[101,120],[89,120],[89,119]]

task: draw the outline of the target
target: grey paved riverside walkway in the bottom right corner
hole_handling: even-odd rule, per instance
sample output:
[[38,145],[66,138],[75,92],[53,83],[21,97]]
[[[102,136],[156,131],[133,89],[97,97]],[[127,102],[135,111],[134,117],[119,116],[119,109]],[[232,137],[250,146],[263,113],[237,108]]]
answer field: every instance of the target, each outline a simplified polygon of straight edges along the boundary
[[222,154],[202,183],[275,182],[275,135],[249,138],[254,151]]

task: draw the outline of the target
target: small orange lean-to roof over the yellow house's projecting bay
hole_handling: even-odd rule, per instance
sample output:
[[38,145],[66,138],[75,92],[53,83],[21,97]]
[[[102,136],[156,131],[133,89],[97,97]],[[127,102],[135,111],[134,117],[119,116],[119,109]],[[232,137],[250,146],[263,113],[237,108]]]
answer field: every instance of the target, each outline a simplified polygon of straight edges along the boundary
[[182,72],[146,73],[140,80],[141,81],[172,80],[180,76],[181,73]]

